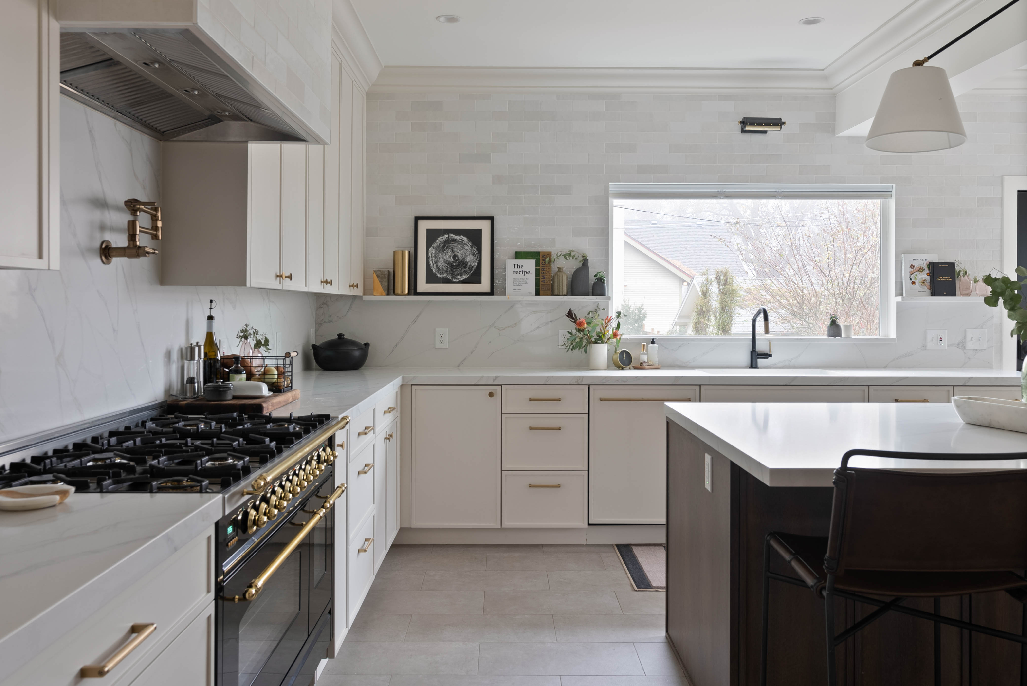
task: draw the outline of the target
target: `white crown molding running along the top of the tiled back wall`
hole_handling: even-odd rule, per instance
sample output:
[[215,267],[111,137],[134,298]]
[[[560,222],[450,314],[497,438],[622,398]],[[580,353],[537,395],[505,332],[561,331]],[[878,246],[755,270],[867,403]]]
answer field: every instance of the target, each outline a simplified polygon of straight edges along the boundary
[[385,67],[371,91],[653,92],[760,90],[830,92],[819,69],[635,69]]

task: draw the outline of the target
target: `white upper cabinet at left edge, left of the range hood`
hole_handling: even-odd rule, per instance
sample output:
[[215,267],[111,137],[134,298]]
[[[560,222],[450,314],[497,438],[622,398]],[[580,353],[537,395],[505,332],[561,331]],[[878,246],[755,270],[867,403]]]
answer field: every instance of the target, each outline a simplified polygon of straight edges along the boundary
[[49,0],[3,3],[0,60],[0,268],[58,269],[60,225],[60,39]]

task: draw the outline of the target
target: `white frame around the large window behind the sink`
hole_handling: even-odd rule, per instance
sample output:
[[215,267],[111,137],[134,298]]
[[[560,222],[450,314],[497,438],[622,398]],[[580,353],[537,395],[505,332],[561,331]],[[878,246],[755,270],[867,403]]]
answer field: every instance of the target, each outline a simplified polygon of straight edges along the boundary
[[[881,260],[878,316],[880,330],[877,336],[859,336],[861,340],[896,337],[896,251],[895,251],[895,184],[625,184],[611,183],[609,187],[609,284],[610,311],[620,307],[619,288],[623,269],[624,235],[622,228],[615,228],[622,209],[618,200],[645,198],[864,198],[881,200]],[[770,312],[773,317],[773,312]],[[625,338],[649,338],[626,336]],[[663,336],[681,340],[724,340],[738,336]],[[823,336],[774,336],[785,339],[816,339]]]

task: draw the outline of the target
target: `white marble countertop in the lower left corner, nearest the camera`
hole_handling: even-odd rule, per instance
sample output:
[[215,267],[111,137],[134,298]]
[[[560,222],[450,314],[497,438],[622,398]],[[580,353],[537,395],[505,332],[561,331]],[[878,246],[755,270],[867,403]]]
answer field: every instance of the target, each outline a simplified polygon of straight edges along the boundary
[[75,493],[0,511],[0,681],[220,517],[214,493]]

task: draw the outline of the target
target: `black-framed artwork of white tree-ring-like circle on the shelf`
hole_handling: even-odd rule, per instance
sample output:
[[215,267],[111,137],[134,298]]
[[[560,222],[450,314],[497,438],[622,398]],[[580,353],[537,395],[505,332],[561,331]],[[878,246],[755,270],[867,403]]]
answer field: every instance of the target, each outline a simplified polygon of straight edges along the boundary
[[415,217],[413,295],[491,296],[493,217]]

